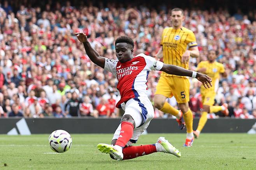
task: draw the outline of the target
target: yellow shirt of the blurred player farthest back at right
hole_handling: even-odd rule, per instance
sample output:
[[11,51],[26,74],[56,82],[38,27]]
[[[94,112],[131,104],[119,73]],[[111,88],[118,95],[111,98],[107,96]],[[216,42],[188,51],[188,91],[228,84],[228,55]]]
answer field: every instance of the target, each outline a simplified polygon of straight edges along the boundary
[[200,68],[206,68],[204,74],[208,75],[212,78],[212,87],[204,88],[203,85],[201,86],[201,93],[205,92],[216,92],[217,88],[219,87],[219,75],[225,72],[223,64],[214,61],[210,63],[209,61],[201,61],[198,63],[196,70]]

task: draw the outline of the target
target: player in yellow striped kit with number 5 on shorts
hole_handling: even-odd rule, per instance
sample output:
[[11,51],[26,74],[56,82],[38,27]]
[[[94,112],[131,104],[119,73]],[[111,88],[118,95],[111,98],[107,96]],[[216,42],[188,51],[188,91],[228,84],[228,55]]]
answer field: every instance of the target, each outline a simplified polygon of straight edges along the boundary
[[[172,27],[163,30],[161,38],[162,48],[155,56],[158,58],[163,57],[163,62],[166,64],[174,64],[188,69],[189,57],[199,56],[196,38],[193,31],[182,26],[182,21],[185,19],[182,9],[173,9],[171,17]],[[184,146],[192,146],[194,138],[192,127],[193,114],[188,107],[189,86],[189,79],[187,77],[161,73],[153,100],[156,108],[176,116],[181,130],[186,123],[187,136]],[[181,111],[166,102],[166,99],[172,96],[177,100]]]

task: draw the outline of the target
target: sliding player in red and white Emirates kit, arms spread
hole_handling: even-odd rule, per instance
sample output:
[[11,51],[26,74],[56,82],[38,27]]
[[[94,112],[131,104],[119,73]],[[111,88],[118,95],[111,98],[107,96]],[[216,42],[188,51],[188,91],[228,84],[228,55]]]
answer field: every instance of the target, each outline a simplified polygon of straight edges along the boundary
[[143,53],[133,57],[134,43],[128,36],[116,39],[115,48],[118,60],[111,60],[101,57],[91,47],[86,34],[75,33],[75,35],[83,43],[91,61],[116,76],[118,80],[116,88],[121,95],[116,107],[124,109],[124,115],[114,133],[111,145],[98,144],[98,149],[103,153],[109,153],[110,157],[115,160],[128,160],[154,152],[165,152],[181,157],[179,150],[164,137],[158,138],[155,144],[131,146],[154,117],[153,106],[147,97],[146,83],[149,71],[160,70],[168,74],[195,77],[203,83],[205,88],[210,88],[211,78],[179,66],[164,64]]

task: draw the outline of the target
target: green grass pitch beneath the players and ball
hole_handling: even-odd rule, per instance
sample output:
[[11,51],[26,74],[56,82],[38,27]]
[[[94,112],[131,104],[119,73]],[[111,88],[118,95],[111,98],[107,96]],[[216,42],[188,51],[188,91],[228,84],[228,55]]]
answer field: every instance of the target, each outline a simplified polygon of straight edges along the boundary
[[201,134],[193,147],[182,147],[185,134],[141,135],[137,143],[153,144],[164,136],[181,151],[181,158],[153,153],[133,160],[115,161],[96,148],[109,143],[112,134],[71,134],[72,147],[55,154],[49,135],[0,135],[0,169],[255,169],[256,135]]

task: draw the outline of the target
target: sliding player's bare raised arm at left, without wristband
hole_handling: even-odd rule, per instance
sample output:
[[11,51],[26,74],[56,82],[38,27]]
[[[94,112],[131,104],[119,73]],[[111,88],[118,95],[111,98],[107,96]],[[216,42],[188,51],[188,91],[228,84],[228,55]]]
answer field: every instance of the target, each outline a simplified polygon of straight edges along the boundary
[[87,36],[85,33],[75,33],[77,36],[77,39],[84,44],[84,49],[86,51],[86,54],[91,59],[93,63],[100,66],[101,68],[105,67],[105,58],[101,57],[98,52],[96,52],[93,47],[91,47],[91,44],[88,42]]

